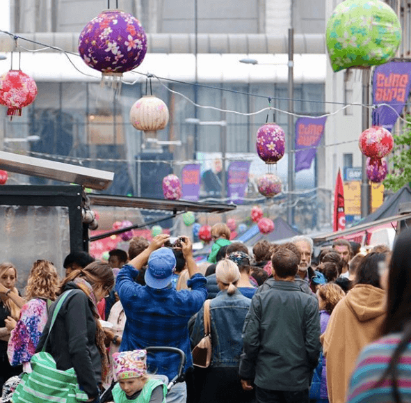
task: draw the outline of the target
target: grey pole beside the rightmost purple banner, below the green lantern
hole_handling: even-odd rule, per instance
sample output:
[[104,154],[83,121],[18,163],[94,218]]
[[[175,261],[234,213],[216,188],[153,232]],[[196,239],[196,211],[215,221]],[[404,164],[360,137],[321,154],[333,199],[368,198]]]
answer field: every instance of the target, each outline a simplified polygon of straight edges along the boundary
[[[369,105],[370,94],[369,84],[370,81],[370,68],[362,70],[362,103]],[[366,106],[362,106],[362,129],[369,128],[369,109]],[[362,180],[361,180],[361,216],[364,218],[369,214],[370,204],[370,188],[368,183],[368,177],[366,176],[366,156],[362,155]]]

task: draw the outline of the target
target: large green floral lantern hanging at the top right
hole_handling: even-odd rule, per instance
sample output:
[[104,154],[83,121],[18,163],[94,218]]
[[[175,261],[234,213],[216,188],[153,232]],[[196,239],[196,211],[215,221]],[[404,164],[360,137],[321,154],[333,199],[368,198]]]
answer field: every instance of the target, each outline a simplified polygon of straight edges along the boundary
[[327,23],[332,70],[387,63],[401,43],[401,24],[394,10],[380,0],[346,0]]

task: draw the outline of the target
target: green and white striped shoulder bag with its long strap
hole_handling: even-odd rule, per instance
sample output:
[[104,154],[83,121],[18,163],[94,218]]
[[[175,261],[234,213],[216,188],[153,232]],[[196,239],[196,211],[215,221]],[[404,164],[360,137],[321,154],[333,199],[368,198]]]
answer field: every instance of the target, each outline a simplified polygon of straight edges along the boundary
[[45,345],[42,351],[31,357],[33,372],[23,375],[22,381],[13,393],[13,403],[45,403],[47,400],[55,403],[76,403],[88,400],[87,394],[79,389],[74,368],[58,370],[54,358],[44,351],[58,311],[69,294],[70,291],[65,292],[58,300]]

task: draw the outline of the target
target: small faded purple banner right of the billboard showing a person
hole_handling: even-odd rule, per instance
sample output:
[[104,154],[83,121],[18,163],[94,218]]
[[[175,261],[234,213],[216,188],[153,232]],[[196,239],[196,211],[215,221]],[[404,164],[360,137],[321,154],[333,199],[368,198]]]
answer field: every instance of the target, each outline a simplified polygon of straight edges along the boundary
[[227,169],[227,196],[237,205],[244,203],[245,190],[248,184],[250,161],[233,161]]

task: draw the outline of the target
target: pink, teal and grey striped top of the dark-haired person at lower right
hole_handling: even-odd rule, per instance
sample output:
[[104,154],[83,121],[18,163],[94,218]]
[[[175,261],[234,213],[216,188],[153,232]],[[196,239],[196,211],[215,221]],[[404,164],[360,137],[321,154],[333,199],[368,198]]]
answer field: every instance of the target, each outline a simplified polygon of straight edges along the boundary
[[[401,333],[392,333],[366,346],[357,360],[348,390],[348,403],[392,403],[392,381],[385,379],[374,388],[382,377],[392,355],[401,341]],[[403,402],[411,402],[411,343],[397,364],[398,390]]]

